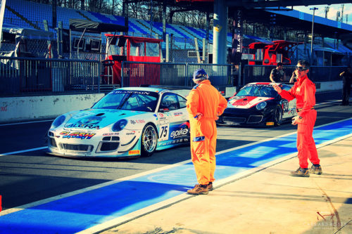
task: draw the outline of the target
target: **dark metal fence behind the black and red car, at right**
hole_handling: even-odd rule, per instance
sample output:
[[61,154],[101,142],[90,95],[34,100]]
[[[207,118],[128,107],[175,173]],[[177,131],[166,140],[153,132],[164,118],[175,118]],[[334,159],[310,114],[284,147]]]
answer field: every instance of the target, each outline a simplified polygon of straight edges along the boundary
[[[243,76],[241,77],[241,85],[248,84],[251,82],[270,82],[270,72],[275,66],[265,65],[245,65]],[[333,82],[341,80],[339,74],[344,70],[343,66],[335,67],[318,67],[310,66],[308,77],[313,82]],[[285,82],[289,82],[292,72],[294,72],[294,66],[284,66],[284,72],[286,74]]]

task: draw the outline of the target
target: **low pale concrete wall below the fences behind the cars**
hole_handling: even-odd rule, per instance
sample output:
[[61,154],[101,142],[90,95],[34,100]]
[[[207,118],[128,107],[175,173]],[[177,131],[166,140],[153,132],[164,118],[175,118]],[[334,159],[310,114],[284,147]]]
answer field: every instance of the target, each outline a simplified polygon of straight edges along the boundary
[[[342,89],[342,82],[316,83],[317,93]],[[189,90],[180,94],[188,95]],[[177,92],[179,93],[179,92]],[[55,119],[71,110],[91,108],[104,93],[0,98],[0,124]]]

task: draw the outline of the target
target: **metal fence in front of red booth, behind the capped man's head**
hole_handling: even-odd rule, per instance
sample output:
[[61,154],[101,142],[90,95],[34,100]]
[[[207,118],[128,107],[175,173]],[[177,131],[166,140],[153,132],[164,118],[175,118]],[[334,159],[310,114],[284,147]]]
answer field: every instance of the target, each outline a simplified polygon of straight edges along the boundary
[[203,68],[214,86],[232,86],[231,65],[203,63],[122,63],[122,86],[146,84],[191,88],[194,70]]

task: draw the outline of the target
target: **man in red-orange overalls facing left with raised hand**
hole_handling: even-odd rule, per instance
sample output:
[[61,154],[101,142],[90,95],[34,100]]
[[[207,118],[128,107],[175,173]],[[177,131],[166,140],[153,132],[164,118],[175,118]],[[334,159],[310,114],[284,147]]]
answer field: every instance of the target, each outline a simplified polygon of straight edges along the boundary
[[[292,118],[292,124],[297,125],[297,150],[299,168],[291,171],[291,176],[309,177],[309,172],[322,174],[317,148],[313,139],[313,128],[317,119],[315,105],[315,84],[308,79],[309,63],[306,60],[298,60],[296,66],[297,82],[289,90],[282,90],[276,84],[275,91],[282,98],[293,100],[296,98],[297,114]],[[312,162],[312,167],[308,170],[308,159]]]

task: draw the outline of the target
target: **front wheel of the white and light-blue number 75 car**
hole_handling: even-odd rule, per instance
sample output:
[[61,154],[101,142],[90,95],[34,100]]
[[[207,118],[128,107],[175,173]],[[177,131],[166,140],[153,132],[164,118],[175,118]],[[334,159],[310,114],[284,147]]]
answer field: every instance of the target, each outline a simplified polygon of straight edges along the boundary
[[152,124],[146,124],[142,132],[141,141],[141,155],[142,157],[149,157],[153,155],[156,150],[156,144],[158,143],[158,134],[155,127]]

